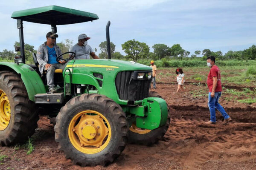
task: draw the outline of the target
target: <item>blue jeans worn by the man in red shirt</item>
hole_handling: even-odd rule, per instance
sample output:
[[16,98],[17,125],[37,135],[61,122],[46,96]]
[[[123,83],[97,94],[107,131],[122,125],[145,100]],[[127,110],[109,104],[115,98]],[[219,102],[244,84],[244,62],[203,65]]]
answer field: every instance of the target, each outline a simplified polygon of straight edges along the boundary
[[221,91],[215,92],[215,97],[211,97],[211,92],[208,94],[208,106],[211,115],[211,122],[216,122],[215,108],[222,114],[224,119],[228,119],[230,116],[226,113],[224,108],[218,103],[218,99],[221,97]]

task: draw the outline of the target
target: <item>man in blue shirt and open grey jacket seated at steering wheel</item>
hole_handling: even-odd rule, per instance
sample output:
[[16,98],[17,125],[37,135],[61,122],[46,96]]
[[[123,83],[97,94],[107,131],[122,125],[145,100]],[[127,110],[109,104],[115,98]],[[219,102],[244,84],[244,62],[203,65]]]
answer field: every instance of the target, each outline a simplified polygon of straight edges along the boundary
[[58,45],[55,45],[56,38],[58,34],[55,32],[48,32],[46,34],[47,41],[44,44],[40,45],[37,51],[36,59],[39,63],[39,71],[43,74],[44,71],[47,71],[46,78],[47,78],[47,85],[49,88],[49,92],[56,93],[56,89],[54,88],[54,72],[55,69],[64,69],[64,63],[66,61],[60,60],[59,62],[56,61],[58,55],[61,54],[61,49]]

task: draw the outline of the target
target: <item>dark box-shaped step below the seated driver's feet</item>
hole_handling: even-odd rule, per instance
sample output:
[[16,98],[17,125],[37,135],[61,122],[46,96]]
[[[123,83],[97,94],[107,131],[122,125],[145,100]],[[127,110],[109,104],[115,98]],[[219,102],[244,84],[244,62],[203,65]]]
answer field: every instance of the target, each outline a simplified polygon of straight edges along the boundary
[[35,95],[36,104],[61,104],[64,102],[64,93],[43,93]]

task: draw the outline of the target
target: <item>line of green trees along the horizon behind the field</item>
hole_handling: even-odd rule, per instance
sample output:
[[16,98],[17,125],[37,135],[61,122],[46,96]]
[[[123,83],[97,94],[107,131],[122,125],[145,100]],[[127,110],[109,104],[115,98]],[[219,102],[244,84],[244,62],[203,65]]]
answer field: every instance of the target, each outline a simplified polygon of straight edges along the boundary
[[[15,42],[14,46],[19,46],[19,42]],[[69,51],[69,49],[73,46],[72,40],[64,40],[64,42],[59,42],[57,45],[61,48],[62,52]],[[36,53],[35,47],[33,45],[24,44],[25,48],[25,59],[28,62],[33,62],[32,53]],[[108,58],[107,53],[107,42],[101,42],[99,44],[100,53],[99,57],[104,59]],[[205,60],[208,56],[214,56],[218,60],[253,60],[256,59],[256,45],[252,45],[243,51],[228,51],[226,54],[222,54],[221,51],[211,51],[210,49],[204,49],[203,51],[196,50],[194,54],[189,57],[191,54],[189,51],[183,49],[180,44],[174,44],[169,47],[166,44],[154,44],[152,46],[153,52],[150,52],[150,47],[145,42],[139,42],[136,40],[128,40],[122,44],[122,50],[126,55],[122,55],[119,51],[115,51],[116,45],[111,42],[111,58],[113,59],[124,59],[124,60],[133,60],[137,62],[137,60],[141,59],[153,59],[153,60],[182,60],[182,59],[201,59]],[[97,51],[97,48],[94,49]],[[6,60],[12,60],[16,53],[14,51],[8,51],[4,49],[0,51],[0,58]],[[17,53],[19,54],[19,52]],[[198,57],[198,55],[202,55],[203,57]],[[64,56],[65,57],[65,56]],[[67,56],[66,56],[67,58]]]

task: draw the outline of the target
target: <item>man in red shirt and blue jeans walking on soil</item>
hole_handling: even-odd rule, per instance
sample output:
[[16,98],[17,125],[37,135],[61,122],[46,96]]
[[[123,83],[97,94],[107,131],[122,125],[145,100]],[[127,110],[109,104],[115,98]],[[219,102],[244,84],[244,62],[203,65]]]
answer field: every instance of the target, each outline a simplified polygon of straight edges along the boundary
[[216,115],[215,115],[215,108],[221,112],[222,116],[224,117],[224,121],[222,122],[222,125],[226,124],[227,122],[230,122],[232,119],[224,108],[218,103],[219,98],[221,97],[221,71],[218,68],[217,65],[215,65],[215,57],[209,56],[207,57],[207,66],[209,66],[210,72],[208,74],[207,78],[207,85],[209,88],[209,94],[208,94],[208,106],[210,110],[210,121],[205,122],[205,124],[215,124],[216,123]]

